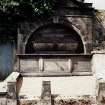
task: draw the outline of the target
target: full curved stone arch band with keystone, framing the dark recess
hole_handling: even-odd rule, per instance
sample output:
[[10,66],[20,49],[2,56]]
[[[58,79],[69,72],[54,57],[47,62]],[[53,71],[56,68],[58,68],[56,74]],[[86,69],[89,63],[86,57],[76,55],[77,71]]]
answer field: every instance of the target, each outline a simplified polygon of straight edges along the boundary
[[[55,21],[56,20],[56,21]],[[34,24],[34,23],[33,23]],[[67,19],[64,19],[64,18],[58,18],[58,17],[53,17],[52,19],[50,20],[47,20],[47,21],[41,21],[39,22],[39,24],[37,25],[33,25],[32,29],[30,30],[30,33],[28,33],[28,35],[26,36],[24,42],[23,42],[23,50],[22,50],[22,53],[25,53],[25,49],[26,49],[26,45],[28,43],[28,40],[29,38],[31,37],[31,35],[33,33],[35,33],[38,29],[40,29],[41,27],[44,27],[46,25],[49,25],[49,24],[60,24],[60,25],[64,25],[66,27],[70,27],[72,28],[78,35],[79,37],[81,38],[81,41],[83,43],[83,49],[84,49],[84,54],[86,53],[90,53],[90,52],[87,52],[88,50],[88,47],[87,47],[87,43],[84,39],[84,35],[82,35],[81,33],[81,30],[78,29],[73,23],[71,23],[70,21],[68,21]]]

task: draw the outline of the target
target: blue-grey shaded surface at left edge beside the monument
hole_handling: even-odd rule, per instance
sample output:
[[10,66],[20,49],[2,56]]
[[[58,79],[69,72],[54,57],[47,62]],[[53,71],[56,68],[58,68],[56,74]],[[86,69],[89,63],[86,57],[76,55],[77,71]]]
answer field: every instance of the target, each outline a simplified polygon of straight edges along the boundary
[[13,70],[14,45],[10,42],[0,43],[0,79],[6,78]]

